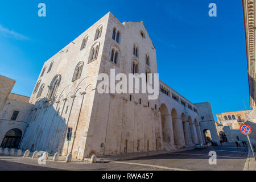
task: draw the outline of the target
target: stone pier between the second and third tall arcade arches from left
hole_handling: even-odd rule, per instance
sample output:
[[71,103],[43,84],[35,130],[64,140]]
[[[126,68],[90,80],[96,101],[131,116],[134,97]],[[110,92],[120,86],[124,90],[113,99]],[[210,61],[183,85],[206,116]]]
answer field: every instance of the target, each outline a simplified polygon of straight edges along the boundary
[[177,146],[185,146],[185,138],[182,126],[182,119],[181,118],[173,118],[174,121],[174,137],[175,137],[175,144]]

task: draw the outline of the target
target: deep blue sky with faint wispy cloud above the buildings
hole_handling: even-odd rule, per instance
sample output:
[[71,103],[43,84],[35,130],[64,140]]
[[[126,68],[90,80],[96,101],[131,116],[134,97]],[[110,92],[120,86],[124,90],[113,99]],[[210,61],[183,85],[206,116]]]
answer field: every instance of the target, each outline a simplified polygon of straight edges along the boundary
[[[211,2],[217,17],[208,15]],[[44,61],[109,11],[121,22],[143,20],[159,78],[188,100],[210,102],[214,117],[249,109],[242,1],[1,1],[0,75],[30,96]]]

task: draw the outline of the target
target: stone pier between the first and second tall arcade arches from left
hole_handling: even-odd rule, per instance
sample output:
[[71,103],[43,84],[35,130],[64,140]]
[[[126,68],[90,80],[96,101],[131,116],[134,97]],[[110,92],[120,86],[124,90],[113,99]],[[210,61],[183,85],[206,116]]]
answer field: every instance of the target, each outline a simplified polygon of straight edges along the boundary
[[161,115],[163,142],[168,142],[174,146],[174,129],[172,127],[172,118],[170,114]]

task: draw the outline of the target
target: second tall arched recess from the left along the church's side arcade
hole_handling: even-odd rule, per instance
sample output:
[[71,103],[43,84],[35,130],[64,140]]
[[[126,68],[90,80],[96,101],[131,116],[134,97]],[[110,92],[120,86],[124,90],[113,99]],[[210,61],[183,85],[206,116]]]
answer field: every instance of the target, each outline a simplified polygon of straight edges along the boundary
[[177,111],[172,109],[172,126],[174,129],[174,144],[175,146],[185,146],[184,132],[182,120],[179,118]]

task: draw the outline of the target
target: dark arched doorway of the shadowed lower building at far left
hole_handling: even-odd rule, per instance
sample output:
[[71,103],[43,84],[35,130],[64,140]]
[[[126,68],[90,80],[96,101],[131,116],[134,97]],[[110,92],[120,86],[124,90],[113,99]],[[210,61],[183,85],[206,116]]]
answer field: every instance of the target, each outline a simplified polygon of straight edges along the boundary
[[2,148],[18,148],[22,137],[22,131],[19,129],[11,129],[5,134],[1,147]]

